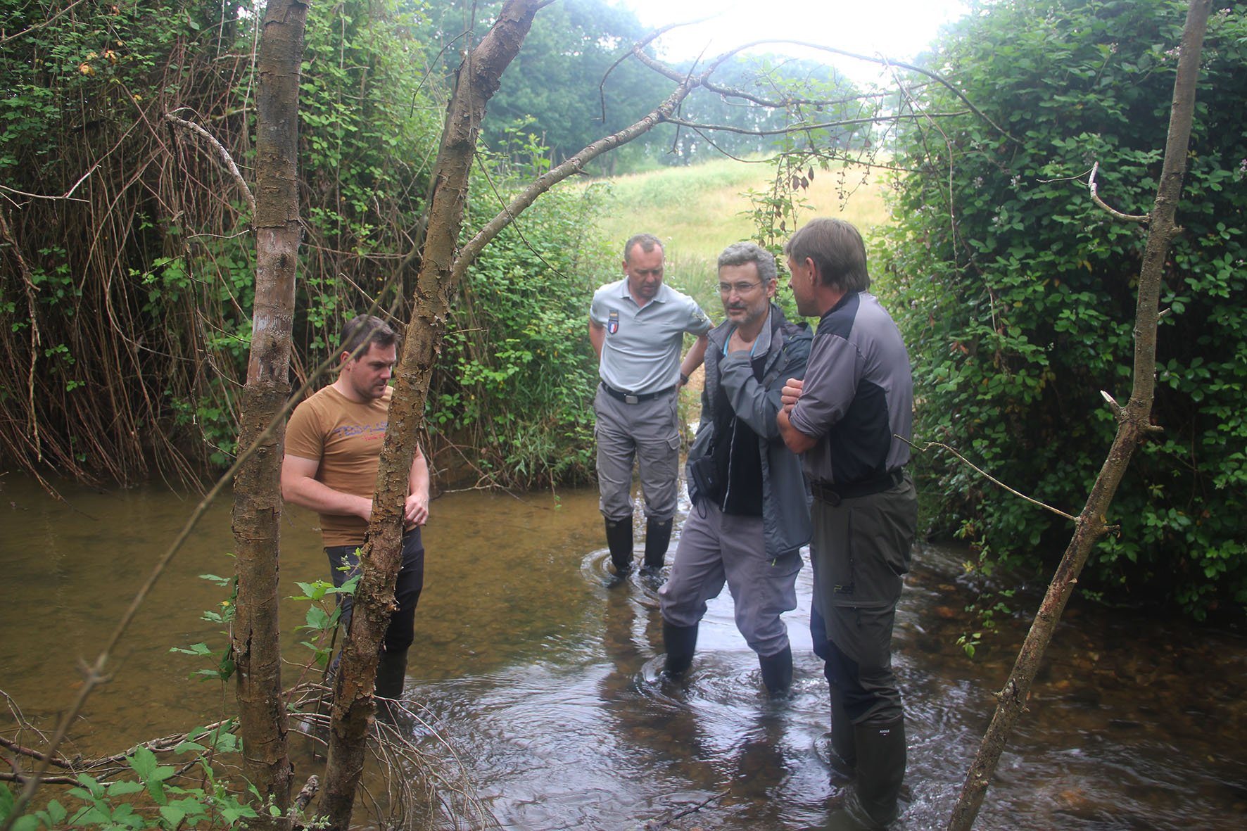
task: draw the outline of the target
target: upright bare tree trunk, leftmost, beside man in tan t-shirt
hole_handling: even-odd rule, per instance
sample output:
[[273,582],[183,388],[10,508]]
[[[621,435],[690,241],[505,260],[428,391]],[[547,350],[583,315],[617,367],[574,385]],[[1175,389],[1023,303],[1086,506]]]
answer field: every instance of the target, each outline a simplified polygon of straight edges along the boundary
[[[299,250],[299,64],[307,5],[269,0],[259,42],[256,129],[256,302],[238,447],[274,420],[289,396],[291,331]],[[253,827],[289,827],[293,767],[287,747],[278,641],[281,467],[278,425],[234,479],[233,535],[238,606],[233,621],[238,721],[251,781],[259,791]],[[281,810],[271,817],[268,804]]]

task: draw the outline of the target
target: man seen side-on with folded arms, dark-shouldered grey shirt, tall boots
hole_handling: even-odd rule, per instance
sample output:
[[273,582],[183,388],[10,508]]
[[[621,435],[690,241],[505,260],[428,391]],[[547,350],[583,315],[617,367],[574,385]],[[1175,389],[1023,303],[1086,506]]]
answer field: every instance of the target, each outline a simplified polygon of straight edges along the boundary
[[[918,525],[904,472],[913,381],[900,332],[867,288],[862,236],[812,220],[788,241],[797,311],[818,316],[804,381],[789,379],[776,418],[802,454],[811,507],[811,634],[831,683],[837,767],[857,774],[857,805],[883,826],[898,814],[905,774],[892,626]],[[899,437],[899,438],[898,438]]]

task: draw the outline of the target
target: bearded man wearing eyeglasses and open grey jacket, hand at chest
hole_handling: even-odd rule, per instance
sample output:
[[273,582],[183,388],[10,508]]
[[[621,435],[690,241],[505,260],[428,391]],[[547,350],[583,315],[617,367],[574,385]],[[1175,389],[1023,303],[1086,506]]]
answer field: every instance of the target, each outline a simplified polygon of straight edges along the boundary
[[806,372],[812,336],[772,302],[776,261],[752,242],[718,257],[718,292],[727,319],[710,333],[701,423],[688,450],[685,522],[658,590],[665,675],[692,664],[706,601],[726,583],[736,626],[758,654],[767,692],[792,685],[792,648],[779,615],[797,608],[802,545],[809,542],[809,503],[799,459],[776,424],[781,389]]

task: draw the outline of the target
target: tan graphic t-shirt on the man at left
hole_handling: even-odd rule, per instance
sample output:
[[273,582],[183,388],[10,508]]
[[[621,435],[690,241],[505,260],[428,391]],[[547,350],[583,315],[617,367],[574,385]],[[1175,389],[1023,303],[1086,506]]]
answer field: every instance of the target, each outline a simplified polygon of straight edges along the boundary
[[[389,420],[393,389],[375,401],[353,402],[324,387],[291,414],[286,453],[320,463],[315,479],[334,490],[372,498]],[[324,545],[362,545],[368,523],[359,517],[320,514]]]

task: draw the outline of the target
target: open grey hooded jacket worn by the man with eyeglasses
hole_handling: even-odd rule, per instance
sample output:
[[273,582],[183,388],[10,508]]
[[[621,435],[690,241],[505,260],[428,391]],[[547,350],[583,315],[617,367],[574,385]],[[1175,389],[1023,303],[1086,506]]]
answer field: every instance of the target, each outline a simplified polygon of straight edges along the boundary
[[[788,378],[803,378],[809,346],[813,341],[806,324],[791,323],[774,303],[771,304],[771,344],[767,349],[762,382],[753,377],[749,357],[744,352],[723,354],[731,337],[731,322],[711,329],[706,348],[706,388],[702,391],[701,423],[688,449],[688,462],[706,455],[715,438],[715,413],[711,409],[722,383],[736,415],[758,434],[762,454],[762,532],[767,558],[794,552],[809,542],[809,490],[801,469],[801,459],[779,438],[776,415],[779,413],[779,392]],[[763,333],[759,337],[766,337]],[[688,495],[696,503],[698,494],[692,475],[687,477]]]

